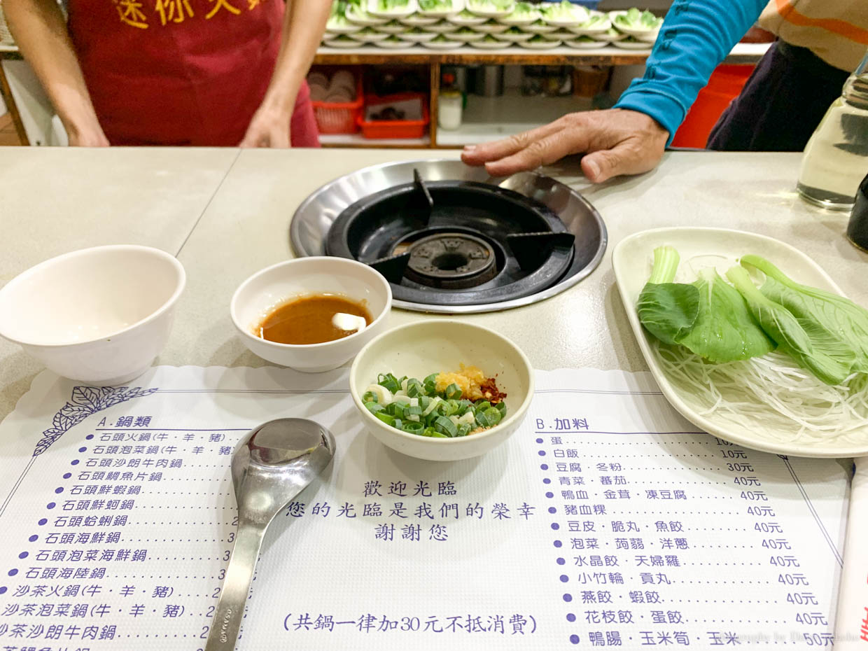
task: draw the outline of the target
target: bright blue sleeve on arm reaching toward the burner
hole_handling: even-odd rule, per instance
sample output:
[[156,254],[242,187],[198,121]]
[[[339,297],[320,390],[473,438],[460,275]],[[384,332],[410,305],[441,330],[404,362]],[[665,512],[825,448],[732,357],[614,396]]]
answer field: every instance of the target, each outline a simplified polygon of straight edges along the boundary
[[766,7],[767,0],[675,0],[648,56],[645,76],[635,79],[615,103],[650,115],[669,132]]

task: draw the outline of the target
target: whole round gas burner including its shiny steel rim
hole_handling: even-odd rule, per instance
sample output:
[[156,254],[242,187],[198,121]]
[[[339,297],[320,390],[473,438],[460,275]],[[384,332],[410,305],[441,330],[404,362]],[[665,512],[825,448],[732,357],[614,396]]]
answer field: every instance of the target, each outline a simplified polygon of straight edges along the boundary
[[332,181],[296,211],[299,255],[365,262],[393,305],[489,312],[559,293],[602,259],[606,229],[580,194],[538,174],[495,184],[459,161],[365,168]]

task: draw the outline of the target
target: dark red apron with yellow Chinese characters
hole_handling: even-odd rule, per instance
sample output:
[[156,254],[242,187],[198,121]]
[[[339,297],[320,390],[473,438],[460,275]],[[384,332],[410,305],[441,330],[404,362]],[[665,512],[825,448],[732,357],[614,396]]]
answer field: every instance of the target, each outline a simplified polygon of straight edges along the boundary
[[[283,0],[69,0],[69,34],[113,145],[237,146],[277,59]],[[293,147],[317,147],[306,84]]]

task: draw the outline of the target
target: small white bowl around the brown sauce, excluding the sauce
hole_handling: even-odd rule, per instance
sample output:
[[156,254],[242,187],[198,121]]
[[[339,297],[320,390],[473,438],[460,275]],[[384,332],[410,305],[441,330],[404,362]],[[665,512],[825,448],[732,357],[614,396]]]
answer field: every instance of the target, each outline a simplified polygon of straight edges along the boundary
[[[365,304],[372,322],[363,330],[322,344],[279,344],[262,339],[257,327],[269,312],[295,297],[338,294]],[[327,256],[279,262],[254,273],[235,291],[232,320],[251,352],[296,371],[331,371],[355,357],[385,329],[391,287],[380,273],[356,260]]]

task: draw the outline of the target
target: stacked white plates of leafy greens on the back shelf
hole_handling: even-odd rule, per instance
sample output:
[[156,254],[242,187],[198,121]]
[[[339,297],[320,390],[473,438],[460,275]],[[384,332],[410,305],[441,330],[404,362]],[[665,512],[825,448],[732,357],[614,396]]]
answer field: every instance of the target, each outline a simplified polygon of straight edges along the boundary
[[[335,0],[337,2],[338,0]],[[326,25],[323,44],[354,48],[372,43],[382,48],[456,49],[651,49],[660,25],[638,10],[587,10],[580,4],[531,4],[523,0],[353,0],[344,18]],[[621,17],[619,17],[621,16]],[[659,21],[658,21],[659,22]]]

